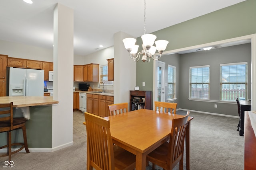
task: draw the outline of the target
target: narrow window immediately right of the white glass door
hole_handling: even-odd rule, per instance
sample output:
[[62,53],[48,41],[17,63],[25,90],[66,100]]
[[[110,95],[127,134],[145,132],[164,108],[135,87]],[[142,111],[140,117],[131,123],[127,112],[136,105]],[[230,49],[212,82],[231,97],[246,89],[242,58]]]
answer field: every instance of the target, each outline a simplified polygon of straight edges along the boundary
[[168,65],[168,87],[167,100],[176,98],[175,96],[176,67]]

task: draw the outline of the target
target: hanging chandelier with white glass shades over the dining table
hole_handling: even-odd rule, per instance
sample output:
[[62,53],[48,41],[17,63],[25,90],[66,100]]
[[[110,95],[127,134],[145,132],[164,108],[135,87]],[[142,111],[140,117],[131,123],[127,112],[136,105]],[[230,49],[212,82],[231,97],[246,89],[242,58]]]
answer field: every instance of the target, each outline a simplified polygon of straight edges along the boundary
[[[153,34],[146,34],[146,0],[144,0],[144,35],[141,36],[142,39],[142,48],[143,50],[140,51],[138,54],[139,45],[135,45],[136,39],[134,38],[125,38],[123,39],[124,47],[127,49],[130,57],[134,61],[140,60],[140,55],[142,55],[142,61],[145,63],[147,61],[150,62],[150,59],[159,60],[161,54],[166,49],[167,44],[169,41],[166,40],[156,40],[156,35]],[[155,43],[156,46],[153,46]],[[154,58],[154,54],[156,53],[156,49],[158,53],[160,53],[160,57]]]

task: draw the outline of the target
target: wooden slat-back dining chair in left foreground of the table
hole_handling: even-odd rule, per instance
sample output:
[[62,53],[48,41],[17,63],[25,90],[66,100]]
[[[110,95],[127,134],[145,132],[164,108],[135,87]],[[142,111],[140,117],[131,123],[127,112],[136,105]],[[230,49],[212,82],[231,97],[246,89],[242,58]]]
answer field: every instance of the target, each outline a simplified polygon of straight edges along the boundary
[[109,120],[85,112],[87,170],[133,170],[136,156],[113,145]]

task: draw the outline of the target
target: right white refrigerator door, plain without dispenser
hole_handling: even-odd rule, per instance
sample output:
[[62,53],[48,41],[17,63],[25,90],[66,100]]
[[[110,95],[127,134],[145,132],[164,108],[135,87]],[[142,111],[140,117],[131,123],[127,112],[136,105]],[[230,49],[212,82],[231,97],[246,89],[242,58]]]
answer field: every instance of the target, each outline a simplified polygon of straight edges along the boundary
[[44,70],[26,69],[26,96],[44,96]]

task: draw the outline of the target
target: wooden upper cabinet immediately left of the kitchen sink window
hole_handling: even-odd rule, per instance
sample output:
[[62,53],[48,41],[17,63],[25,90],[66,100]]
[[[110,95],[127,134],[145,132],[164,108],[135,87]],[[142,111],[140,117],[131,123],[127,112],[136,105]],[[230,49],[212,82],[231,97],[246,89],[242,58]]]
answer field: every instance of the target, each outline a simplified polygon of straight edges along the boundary
[[86,64],[84,65],[84,82],[98,82],[99,81],[99,65],[100,64]]

